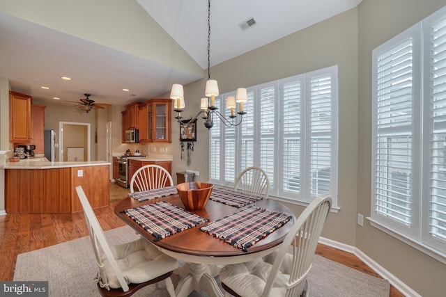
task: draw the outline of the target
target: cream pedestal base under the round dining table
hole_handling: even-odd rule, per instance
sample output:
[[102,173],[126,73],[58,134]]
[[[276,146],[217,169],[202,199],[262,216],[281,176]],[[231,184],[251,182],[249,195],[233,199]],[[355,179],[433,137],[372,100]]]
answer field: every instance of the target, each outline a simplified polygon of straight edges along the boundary
[[[223,293],[218,287],[217,281],[205,264],[186,263],[180,268],[180,275],[183,278],[178,282],[175,289],[177,297],[187,297],[192,291],[205,291],[210,297],[223,297]],[[185,271],[188,271],[186,274]]]

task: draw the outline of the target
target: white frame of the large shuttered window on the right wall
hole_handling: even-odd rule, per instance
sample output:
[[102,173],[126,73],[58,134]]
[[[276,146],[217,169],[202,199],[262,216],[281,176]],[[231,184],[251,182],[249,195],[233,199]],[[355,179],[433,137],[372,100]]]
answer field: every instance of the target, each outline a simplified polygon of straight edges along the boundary
[[[434,259],[446,264],[446,240],[433,239],[429,230],[431,209],[432,188],[431,176],[435,174],[431,165],[431,144],[434,142],[433,133],[446,134],[446,119],[443,120],[443,130],[434,131],[431,106],[433,105],[431,81],[433,74],[433,58],[431,56],[431,26],[436,22],[443,21],[446,24],[446,7],[441,8],[436,13],[426,17],[421,22],[411,26],[394,38],[387,40],[372,51],[372,104],[371,104],[371,216],[368,218],[371,225],[379,230],[394,236],[408,245],[430,255]],[[446,31],[446,25],[443,26]],[[446,33],[443,33],[446,38]],[[401,44],[404,40],[412,40],[412,122],[410,127],[411,138],[411,170],[410,170],[410,214],[407,224],[398,223],[397,220],[382,216],[376,211],[376,162],[377,162],[377,69],[376,61],[380,54],[390,51]],[[446,43],[445,43],[446,45]],[[446,55],[446,49],[440,51]],[[446,61],[446,59],[445,59]],[[446,69],[446,68],[445,68]],[[444,79],[446,81],[446,79]],[[446,118],[446,117],[445,117]],[[444,150],[446,154],[446,149]],[[441,157],[440,157],[441,158]],[[444,159],[444,158],[441,158]],[[445,160],[442,160],[445,161]],[[445,163],[445,162],[443,162]],[[439,164],[443,165],[443,164]],[[438,172],[437,172],[438,174]],[[440,180],[445,183],[446,179]],[[440,188],[441,189],[441,188]],[[443,211],[444,212],[444,211]],[[444,234],[443,234],[444,236]]]

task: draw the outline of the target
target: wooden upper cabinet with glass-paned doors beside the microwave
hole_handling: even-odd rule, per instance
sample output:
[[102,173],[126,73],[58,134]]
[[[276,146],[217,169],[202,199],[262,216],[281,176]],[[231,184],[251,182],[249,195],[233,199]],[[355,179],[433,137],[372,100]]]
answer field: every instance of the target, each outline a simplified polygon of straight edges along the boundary
[[150,99],[139,108],[139,142],[171,143],[171,99]]

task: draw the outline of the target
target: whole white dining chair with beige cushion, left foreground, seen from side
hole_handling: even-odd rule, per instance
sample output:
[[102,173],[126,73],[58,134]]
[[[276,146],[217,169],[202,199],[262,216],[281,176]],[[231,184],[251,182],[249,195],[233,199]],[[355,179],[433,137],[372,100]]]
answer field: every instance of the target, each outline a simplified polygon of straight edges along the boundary
[[148,284],[164,280],[169,296],[174,297],[174,284],[170,276],[178,268],[178,261],[143,238],[110,246],[82,186],[77,186],[76,191],[84,209],[98,265],[95,281],[100,295],[130,296]]

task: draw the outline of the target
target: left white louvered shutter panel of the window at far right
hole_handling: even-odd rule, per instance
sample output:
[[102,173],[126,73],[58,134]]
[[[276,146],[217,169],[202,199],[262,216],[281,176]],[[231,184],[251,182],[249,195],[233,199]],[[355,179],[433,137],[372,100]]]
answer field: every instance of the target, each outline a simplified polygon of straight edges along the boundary
[[374,212],[410,233],[413,222],[413,34],[374,51]]

